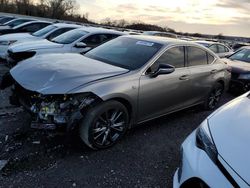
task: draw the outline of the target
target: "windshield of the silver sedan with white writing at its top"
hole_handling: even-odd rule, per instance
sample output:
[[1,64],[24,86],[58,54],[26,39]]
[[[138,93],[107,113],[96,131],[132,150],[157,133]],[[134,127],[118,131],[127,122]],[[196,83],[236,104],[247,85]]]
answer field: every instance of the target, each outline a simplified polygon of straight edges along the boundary
[[161,47],[162,45],[158,43],[122,37],[89,51],[85,56],[135,70],[145,65]]

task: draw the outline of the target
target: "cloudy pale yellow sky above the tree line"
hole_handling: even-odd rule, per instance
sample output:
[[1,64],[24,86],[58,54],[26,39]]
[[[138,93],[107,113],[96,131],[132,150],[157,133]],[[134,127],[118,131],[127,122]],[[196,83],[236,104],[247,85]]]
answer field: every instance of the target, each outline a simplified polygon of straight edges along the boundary
[[77,0],[80,13],[142,21],[182,32],[250,37],[250,0]]

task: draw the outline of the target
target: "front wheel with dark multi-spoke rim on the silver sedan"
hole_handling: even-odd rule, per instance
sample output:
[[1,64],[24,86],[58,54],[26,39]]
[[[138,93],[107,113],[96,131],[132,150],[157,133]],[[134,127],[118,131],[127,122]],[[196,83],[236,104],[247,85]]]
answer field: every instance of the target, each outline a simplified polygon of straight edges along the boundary
[[92,149],[105,149],[124,136],[128,124],[128,110],[122,103],[103,102],[87,111],[80,123],[80,138]]

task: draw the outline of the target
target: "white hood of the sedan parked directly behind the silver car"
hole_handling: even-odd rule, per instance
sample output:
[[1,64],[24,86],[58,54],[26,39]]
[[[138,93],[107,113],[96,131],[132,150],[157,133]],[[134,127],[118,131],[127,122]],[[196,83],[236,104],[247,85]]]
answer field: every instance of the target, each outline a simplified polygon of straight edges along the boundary
[[13,44],[9,47],[9,50],[12,52],[24,52],[29,50],[38,50],[38,49],[49,49],[49,48],[62,48],[63,44],[57,44],[50,42],[46,39],[38,41],[29,41]]

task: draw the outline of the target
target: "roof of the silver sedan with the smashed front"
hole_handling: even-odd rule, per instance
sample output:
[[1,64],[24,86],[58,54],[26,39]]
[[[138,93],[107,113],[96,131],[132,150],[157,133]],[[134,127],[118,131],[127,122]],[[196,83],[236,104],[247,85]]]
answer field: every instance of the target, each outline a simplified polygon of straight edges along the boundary
[[148,42],[154,42],[162,45],[171,45],[171,44],[181,44],[181,45],[196,45],[201,46],[199,44],[195,44],[190,41],[184,41],[181,39],[174,39],[174,38],[168,38],[168,37],[159,37],[159,36],[151,36],[151,35],[126,35],[125,37],[137,39],[137,40],[145,40]]

